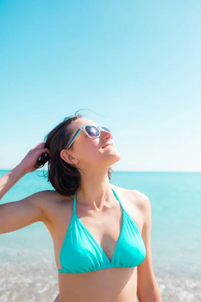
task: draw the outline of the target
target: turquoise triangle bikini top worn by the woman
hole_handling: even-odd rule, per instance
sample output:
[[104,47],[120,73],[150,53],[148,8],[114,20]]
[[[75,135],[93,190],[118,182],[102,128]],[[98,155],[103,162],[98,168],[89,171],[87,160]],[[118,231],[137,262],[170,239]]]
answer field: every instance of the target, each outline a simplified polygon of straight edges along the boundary
[[[113,190],[113,189],[112,189]],[[138,226],[124,209],[119,197],[113,193],[122,207],[122,229],[112,260],[76,215],[76,192],[73,213],[61,247],[59,273],[87,273],[112,267],[135,267],[145,258],[146,250]]]

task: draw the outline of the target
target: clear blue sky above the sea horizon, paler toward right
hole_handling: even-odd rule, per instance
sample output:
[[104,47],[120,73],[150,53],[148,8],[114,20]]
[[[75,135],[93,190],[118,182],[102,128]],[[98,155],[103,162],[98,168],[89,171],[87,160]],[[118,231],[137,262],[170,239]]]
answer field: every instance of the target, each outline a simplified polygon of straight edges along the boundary
[[110,127],[115,170],[201,171],[201,2],[0,4],[0,168],[65,116]]

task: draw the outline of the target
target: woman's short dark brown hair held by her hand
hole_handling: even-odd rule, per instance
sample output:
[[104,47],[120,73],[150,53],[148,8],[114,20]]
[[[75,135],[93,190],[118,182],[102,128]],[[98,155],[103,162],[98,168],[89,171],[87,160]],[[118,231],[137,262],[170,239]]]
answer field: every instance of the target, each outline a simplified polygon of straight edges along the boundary
[[[41,168],[48,162],[48,177],[53,188],[61,195],[70,196],[75,193],[81,182],[81,174],[79,169],[73,165],[66,163],[60,156],[61,150],[66,148],[68,140],[72,136],[69,125],[82,115],[74,115],[65,117],[52,131],[44,138],[45,148],[50,150],[49,154],[42,154],[37,160],[35,167]],[[112,169],[108,170],[108,177],[111,180]]]

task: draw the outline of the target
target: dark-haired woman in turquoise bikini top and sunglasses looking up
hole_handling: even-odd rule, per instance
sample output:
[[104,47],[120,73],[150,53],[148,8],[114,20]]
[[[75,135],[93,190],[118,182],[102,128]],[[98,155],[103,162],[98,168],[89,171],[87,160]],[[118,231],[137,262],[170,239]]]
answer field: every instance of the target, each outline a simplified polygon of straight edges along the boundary
[[65,118],[0,179],[0,198],[48,162],[44,190],[0,205],[0,233],[43,221],[58,268],[59,302],[161,301],[152,269],[149,199],[110,184],[120,160],[108,128]]

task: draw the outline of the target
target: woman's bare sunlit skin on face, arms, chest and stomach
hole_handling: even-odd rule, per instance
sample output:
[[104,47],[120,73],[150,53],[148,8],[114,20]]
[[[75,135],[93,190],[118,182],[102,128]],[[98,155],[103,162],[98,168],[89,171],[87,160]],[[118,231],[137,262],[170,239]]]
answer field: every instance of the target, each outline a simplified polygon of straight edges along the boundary
[[[80,120],[77,122],[80,124],[74,123],[74,127],[89,122]],[[110,139],[111,134],[107,131],[103,131],[99,140],[88,140],[88,137],[81,133],[74,143],[74,151],[70,150],[67,156],[63,152],[61,157],[77,166],[82,161],[82,167],[86,165],[86,169],[90,168],[87,174],[82,175],[77,191],[76,214],[109,259],[112,259],[121,232],[122,208],[111,190],[107,176],[109,160],[111,165],[113,158],[118,155],[113,147],[101,148]],[[84,148],[87,156],[83,153]],[[43,143],[38,144],[16,168],[0,179],[0,199],[21,177],[34,171],[33,166],[43,152],[48,153],[48,150],[44,148]],[[87,162],[90,152],[90,161]],[[104,158],[106,167],[99,165],[101,158]],[[95,168],[94,164],[90,166],[92,160],[97,163]],[[149,199],[137,190],[112,187],[142,234],[146,247],[144,261],[135,268],[110,268],[80,274],[58,273],[59,295],[54,302],[136,302],[137,296],[140,302],[161,302],[152,268]],[[0,234],[42,221],[53,240],[57,268],[62,269],[59,255],[72,216],[73,199],[73,195],[62,196],[57,191],[46,190],[16,202],[1,204]]]

